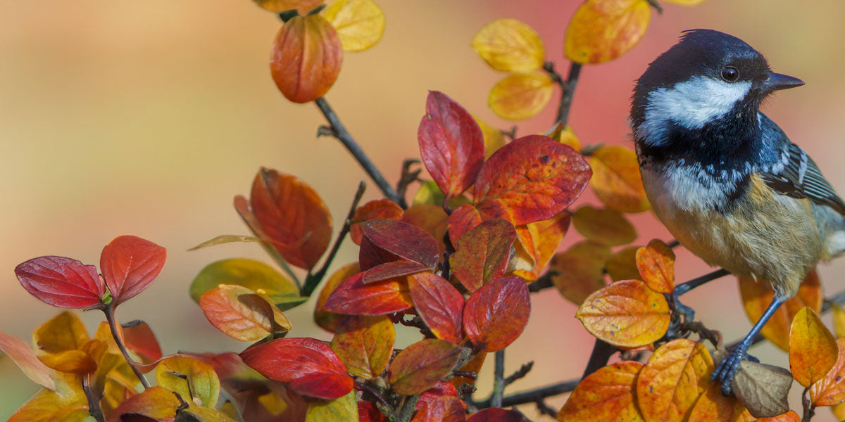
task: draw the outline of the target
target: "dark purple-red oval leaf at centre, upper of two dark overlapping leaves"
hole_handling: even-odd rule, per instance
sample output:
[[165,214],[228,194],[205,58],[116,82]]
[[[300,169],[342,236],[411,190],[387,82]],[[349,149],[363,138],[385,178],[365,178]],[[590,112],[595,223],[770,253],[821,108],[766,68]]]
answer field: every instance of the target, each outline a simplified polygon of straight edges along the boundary
[[[361,227],[373,246],[408,261],[434,268],[439,261],[437,242],[415,225],[392,219],[371,219]],[[363,262],[362,262],[363,267]]]

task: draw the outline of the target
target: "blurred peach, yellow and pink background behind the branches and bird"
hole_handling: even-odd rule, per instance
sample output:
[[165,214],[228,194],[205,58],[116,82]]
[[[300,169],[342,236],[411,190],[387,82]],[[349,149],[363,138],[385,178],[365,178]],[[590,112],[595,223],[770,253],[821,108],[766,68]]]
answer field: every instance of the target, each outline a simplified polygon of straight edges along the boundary
[[[428,89],[444,91],[491,124],[513,124],[486,106],[488,90],[504,75],[470,47],[483,24],[500,17],[531,24],[546,43],[548,60],[564,71],[564,30],[581,3],[377,2],[387,17],[383,40],[371,50],[346,53],[327,98],[391,181],[402,159],[418,155],[417,124]],[[582,142],[630,143],[630,91],[647,63],[681,30],[723,30],[762,51],[776,71],[806,81],[778,94],[766,112],[845,190],[845,3],[709,0],[695,8],[663,6],[640,45],[613,62],[583,69],[570,120]],[[19,262],[63,255],[97,263],[113,237],[134,234],[166,246],[168,261],[158,281],[121,306],[117,317],[149,322],[165,353],[243,349],[205,321],[188,298],[188,284],[217,259],[269,260],[254,244],[186,249],[215,235],[247,233],[232,196],[248,192],[261,165],[308,181],[335,221],[364,177],[339,143],[315,138],[324,122],[315,106],[291,104],[275,89],[268,57],[280,25],[248,0],[0,0],[0,330],[29,339],[57,313],[20,287],[13,273]],[[518,122],[519,133],[543,132],[553,108]],[[370,185],[367,198],[378,197]],[[641,243],[669,237],[651,214],[633,219]],[[567,242],[577,237],[570,234]],[[335,267],[355,259],[355,249],[346,245]],[[679,279],[706,271],[700,260],[679,251]],[[845,261],[821,268],[827,292],[845,288],[843,273]],[[702,287],[687,301],[726,338],[750,327],[733,279]],[[329,339],[311,322],[312,309],[313,300],[288,313],[291,335]],[[506,363],[510,372],[534,360],[535,369],[509,392],[581,375],[592,340],[574,314],[575,306],[553,289],[533,296],[529,326]],[[93,330],[101,315],[84,317]],[[412,339],[404,335],[400,345]],[[788,365],[786,354],[769,345],[753,353]],[[482,374],[478,397],[489,391],[490,380]],[[793,387],[793,408],[799,408],[799,389]],[[0,418],[35,391],[8,358],[0,358]],[[548,403],[559,408],[564,400]],[[533,413],[532,406],[525,410]],[[823,409],[816,420],[832,416]]]

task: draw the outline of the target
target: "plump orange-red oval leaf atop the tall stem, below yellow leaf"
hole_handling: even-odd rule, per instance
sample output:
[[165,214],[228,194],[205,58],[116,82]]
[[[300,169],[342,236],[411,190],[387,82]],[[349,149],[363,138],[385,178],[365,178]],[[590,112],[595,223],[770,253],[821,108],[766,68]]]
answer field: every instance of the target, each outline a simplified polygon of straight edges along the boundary
[[295,16],[275,35],[270,73],[295,103],[317,100],[341,73],[343,50],[335,28],[321,14]]

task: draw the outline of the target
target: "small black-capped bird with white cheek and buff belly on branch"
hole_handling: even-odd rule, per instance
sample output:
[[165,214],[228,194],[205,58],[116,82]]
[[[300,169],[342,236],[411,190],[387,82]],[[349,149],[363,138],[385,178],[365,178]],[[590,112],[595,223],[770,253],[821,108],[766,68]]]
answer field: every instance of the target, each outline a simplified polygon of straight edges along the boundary
[[[760,104],[803,85],[717,30],[684,31],[637,79],[630,127],[643,187],[679,243],[711,266],[774,290],[712,379],[731,380],[752,339],[821,261],[845,251],[845,203]],[[765,281],[764,281],[765,280]]]

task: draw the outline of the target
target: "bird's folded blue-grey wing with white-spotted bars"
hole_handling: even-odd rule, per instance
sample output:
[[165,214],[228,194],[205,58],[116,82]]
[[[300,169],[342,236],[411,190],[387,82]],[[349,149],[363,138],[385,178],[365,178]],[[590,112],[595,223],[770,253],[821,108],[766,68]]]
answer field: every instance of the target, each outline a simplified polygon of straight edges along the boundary
[[808,197],[814,203],[827,205],[845,215],[845,202],[837,195],[831,183],[821,175],[819,166],[798,145],[790,142],[781,129],[767,117],[760,121],[764,133],[785,140],[781,157],[776,164],[764,169],[763,180],[775,192],[790,197]]

